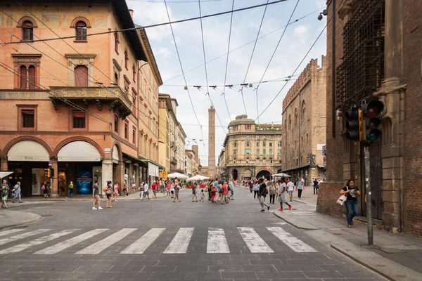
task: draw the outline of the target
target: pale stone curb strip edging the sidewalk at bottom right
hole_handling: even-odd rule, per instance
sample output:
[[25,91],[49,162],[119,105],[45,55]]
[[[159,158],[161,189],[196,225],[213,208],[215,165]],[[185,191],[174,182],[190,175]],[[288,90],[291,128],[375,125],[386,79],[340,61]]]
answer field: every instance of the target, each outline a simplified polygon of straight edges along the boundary
[[[420,281],[422,273],[369,251],[351,242],[331,242],[331,248],[392,281]],[[358,247],[358,249],[356,249]]]

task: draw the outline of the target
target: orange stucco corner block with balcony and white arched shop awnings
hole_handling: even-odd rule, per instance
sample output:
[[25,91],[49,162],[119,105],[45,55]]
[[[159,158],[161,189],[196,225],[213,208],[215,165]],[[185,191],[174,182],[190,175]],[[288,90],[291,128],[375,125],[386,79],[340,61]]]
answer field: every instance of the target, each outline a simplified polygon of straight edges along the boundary
[[[124,0],[0,4],[0,156],[9,183],[91,194],[158,177],[158,86],[144,30]],[[90,34],[104,34],[90,36]],[[37,41],[72,37],[53,41]],[[48,178],[44,169],[54,169]],[[129,188],[132,190],[132,188]]]

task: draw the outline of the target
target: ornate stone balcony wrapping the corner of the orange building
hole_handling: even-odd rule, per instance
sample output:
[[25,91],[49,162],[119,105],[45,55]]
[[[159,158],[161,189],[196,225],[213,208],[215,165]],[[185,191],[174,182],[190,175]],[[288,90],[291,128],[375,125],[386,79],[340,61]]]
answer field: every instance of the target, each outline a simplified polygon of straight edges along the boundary
[[122,117],[127,117],[132,112],[132,102],[120,87],[51,86],[50,89],[54,95],[50,99],[56,110],[57,103],[65,98],[71,101],[82,100],[85,104],[92,101],[98,105],[98,110],[107,105],[108,110],[116,109]]

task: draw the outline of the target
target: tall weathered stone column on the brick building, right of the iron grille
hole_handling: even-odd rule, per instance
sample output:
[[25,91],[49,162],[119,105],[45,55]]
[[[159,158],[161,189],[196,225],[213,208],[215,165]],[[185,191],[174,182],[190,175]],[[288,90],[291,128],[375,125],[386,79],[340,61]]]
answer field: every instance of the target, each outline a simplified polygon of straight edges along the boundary
[[402,228],[402,174],[404,143],[404,93],[406,86],[400,78],[402,62],[402,0],[385,1],[385,79],[374,93],[385,105],[382,117],[383,147],[383,226],[397,232]]

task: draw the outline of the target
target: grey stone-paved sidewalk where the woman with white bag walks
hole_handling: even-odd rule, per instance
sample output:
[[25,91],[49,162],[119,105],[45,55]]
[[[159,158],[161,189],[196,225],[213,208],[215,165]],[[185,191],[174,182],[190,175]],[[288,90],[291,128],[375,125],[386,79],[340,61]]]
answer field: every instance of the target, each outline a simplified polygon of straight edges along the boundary
[[[297,192],[293,196],[297,197]],[[369,247],[366,224],[354,220],[353,228],[347,228],[345,218],[316,213],[312,188],[292,204],[293,211],[274,215],[390,280],[422,280],[422,239],[373,228],[374,245]]]

